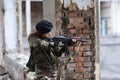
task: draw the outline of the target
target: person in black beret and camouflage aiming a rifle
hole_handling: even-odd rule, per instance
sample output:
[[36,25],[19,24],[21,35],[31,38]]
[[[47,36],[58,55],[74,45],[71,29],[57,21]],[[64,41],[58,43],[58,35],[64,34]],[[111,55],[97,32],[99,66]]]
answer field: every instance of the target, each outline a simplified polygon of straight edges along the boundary
[[65,51],[64,47],[52,47],[50,34],[52,23],[42,20],[36,25],[36,32],[29,35],[30,58],[27,67],[35,71],[35,80],[56,80],[57,59]]

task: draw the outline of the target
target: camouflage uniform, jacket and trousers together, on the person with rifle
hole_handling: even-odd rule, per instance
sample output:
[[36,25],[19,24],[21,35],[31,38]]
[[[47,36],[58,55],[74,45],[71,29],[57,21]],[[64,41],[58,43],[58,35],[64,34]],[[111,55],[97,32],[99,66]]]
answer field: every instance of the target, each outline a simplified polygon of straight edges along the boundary
[[64,48],[51,47],[49,39],[34,34],[29,36],[29,45],[31,55],[27,67],[35,71],[35,80],[56,80],[57,57],[62,55]]

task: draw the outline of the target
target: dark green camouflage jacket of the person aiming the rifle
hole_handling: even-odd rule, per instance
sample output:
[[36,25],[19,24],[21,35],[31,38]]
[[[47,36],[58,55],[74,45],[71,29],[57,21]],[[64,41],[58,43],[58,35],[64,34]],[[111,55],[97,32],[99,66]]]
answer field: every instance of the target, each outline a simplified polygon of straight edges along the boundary
[[30,58],[27,67],[30,71],[35,71],[35,64],[40,66],[52,66],[57,64],[57,57],[60,57],[65,51],[63,47],[51,47],[47,38],[39,38],[34,34],[29,36]]

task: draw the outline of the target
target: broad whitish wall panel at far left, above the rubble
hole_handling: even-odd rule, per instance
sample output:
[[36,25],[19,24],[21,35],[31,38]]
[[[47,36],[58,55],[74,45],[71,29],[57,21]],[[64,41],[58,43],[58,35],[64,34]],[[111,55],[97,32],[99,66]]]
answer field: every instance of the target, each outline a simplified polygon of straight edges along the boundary
[[17,12],[16,0],[5,0],[5,44],[7,51],[16,51]]

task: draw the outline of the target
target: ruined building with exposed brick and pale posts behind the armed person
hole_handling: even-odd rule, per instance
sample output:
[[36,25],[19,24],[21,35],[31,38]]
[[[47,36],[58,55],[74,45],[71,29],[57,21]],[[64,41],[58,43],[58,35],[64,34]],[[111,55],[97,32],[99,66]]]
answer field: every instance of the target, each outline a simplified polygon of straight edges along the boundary
[[[66,34],[87,40],[64,70],[65,80],[97,80],[97,2],[94,0],[2,0],[0,2],[0,64],[15,80],[28,80],[28,35],[35,24],[53,23],[52,36]],[[78,46],[78,45],[76,45]],[[71,51],[74,47],[70,48]]]

